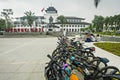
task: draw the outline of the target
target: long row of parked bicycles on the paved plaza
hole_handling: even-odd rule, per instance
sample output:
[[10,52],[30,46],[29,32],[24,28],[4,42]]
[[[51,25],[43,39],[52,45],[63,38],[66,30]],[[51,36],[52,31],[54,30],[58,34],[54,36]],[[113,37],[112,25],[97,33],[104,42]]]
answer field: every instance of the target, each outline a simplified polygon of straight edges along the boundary
[[47,55],[45,80],[120,80],[119,69],[108,66],[107,58],[95,56],[95,47],[63,36],[57,43],[52,55]]

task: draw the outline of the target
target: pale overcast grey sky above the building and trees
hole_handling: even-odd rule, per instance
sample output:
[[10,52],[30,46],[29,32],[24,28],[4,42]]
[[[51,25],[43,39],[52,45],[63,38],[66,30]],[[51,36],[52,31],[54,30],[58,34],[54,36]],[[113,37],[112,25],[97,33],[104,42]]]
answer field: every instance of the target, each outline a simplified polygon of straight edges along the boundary
[[120,14],[120,0],[101,0],[97,8],[94,0],[0,0],[0,12],[12,9],[13,17],[22,17],[29,10],[36,16],[43,16],[41,10],[50,6],[58,10],[58,15],[85,18],[86,22],[91,22],[94,15],[106,17]]

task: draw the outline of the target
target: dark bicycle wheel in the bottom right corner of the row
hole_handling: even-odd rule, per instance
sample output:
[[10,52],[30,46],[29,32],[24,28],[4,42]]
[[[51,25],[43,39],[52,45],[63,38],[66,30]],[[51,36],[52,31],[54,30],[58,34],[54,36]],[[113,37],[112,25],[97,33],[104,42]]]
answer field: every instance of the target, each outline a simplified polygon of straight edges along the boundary
[[120,80],[120,70],[115,66],[106,66],[94,74],[94,80]]

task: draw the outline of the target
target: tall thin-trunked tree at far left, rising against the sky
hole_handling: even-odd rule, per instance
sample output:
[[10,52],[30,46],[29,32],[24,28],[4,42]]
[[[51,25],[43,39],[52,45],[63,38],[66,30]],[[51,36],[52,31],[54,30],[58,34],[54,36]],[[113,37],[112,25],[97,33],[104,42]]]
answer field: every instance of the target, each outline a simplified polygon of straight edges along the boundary
[[5,17],[5,25],[7,28],[8,27],[8,19],[10,19],[9,15],[13,15],[13,11],[12,11],[12,9],[3,9],[1,14],[2,14],[2,16]]

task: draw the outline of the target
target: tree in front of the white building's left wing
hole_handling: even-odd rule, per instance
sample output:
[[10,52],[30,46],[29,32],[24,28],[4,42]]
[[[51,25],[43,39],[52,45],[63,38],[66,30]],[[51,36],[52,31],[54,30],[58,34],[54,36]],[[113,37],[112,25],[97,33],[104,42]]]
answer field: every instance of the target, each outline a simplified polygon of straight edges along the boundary
[[25,16],[23,17],[24,19],[27,19],[28,25],[32,27],[33,22],[36,20],[35,13],[32,11],[26,11]]

